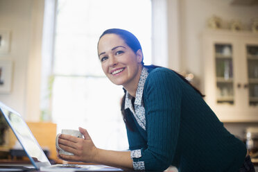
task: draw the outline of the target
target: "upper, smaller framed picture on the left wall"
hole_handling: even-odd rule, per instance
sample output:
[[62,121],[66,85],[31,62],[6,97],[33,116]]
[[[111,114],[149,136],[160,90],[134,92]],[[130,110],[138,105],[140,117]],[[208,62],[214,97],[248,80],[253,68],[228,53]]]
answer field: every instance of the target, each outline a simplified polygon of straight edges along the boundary
[[0,28],[0,53],[8,53],[10,44],[10,31]]

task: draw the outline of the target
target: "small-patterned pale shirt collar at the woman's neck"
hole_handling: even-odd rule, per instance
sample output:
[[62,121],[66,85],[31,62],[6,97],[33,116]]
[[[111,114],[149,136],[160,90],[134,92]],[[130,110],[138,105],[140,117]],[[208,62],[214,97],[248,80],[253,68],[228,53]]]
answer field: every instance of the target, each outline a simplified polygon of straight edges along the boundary
[[[142,95],[144,92],[144,84],[146,82],[147,77],[148,77],[148,69],[146,69],[146,67],[143,67],[141,70],[141,76],[139,78],[139,83],[137,86],[135,105],[141,105]],[[130,100],[132,100],[132,96],[128,92],[126,92],[125,109],[129,108],[132,105],[132,101]]]

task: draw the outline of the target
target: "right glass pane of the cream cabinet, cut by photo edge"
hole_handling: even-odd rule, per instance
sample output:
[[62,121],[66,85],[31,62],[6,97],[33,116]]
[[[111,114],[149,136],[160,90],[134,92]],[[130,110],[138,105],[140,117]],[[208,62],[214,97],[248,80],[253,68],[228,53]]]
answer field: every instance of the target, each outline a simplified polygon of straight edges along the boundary
[[248,60],[249,105],[258,105],[258,45],[246,46]]

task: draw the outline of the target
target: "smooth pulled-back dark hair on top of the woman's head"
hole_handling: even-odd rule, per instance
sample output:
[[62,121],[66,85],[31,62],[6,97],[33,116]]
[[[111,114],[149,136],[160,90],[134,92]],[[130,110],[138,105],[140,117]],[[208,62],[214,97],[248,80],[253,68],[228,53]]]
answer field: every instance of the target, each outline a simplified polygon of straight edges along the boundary
[[[137,39],[137,37],[132,33],[130,33],[129,31],[123,30],[121,28],[107,29],[99,37],[98,42],[99,40],[101,40],[101,37],[103,37],[104,35],[112,34],[112,33],[119,35],[119,37],[121,37],[123,41],[126,42],[126,44],[130,47],[130,49],[132,49],[133,52],[136,53],[139,49],[142,51],[141,44],[139,43],[139,40]],[[142,57],[141,64],[144,65],[144,57]]]

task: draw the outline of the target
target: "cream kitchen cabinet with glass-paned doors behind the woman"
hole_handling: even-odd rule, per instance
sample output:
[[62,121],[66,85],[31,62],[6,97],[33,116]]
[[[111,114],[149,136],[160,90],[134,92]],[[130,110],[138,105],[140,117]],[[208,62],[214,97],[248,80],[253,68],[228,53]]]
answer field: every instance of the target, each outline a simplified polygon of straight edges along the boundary
[[203,38],[205,101],[221,121],[258,121],[258,34],[209,30]]

